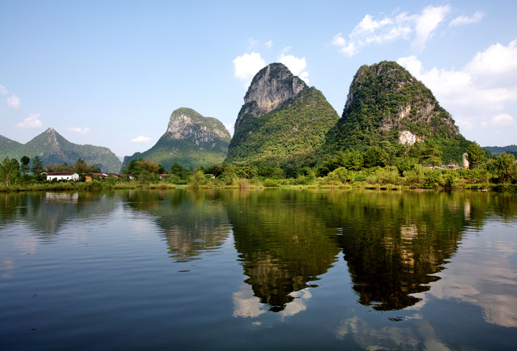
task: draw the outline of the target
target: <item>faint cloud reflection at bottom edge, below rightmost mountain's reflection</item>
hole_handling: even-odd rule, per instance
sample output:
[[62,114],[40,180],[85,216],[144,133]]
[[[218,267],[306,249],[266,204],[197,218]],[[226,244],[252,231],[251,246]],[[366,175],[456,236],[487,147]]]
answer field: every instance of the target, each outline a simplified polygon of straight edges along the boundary
[[[357,344],[369,351],[428,349],[449,350],[442,342],[436,340],[433,327],[426,321],[416,320],[414,327],[382,327],[375,329],[358,316],[341,322],[336,330],[336,338],[352,337]],[[423,345],[423,347],[421,347]]]

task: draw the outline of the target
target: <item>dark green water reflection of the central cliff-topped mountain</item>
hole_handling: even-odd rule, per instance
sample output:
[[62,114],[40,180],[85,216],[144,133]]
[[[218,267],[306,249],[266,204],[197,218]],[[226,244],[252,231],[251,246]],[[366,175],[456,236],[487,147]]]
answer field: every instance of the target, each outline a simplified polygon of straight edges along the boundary
[[283,190],[226,196],[245,282],[270,311],[282,311],[293,292],[311,286],[336,261],[339,249],[314,216],[322,196]]

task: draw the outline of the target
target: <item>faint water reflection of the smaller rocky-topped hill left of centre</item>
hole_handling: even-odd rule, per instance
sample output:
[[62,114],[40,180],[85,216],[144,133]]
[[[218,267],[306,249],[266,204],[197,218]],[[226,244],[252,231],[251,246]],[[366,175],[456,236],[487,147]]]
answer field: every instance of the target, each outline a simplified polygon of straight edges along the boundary
[[175,262],[199,259],[201,251],[221,247],[229,235],[221,190],[131,190],[123,199],[151,215],[162,229]]

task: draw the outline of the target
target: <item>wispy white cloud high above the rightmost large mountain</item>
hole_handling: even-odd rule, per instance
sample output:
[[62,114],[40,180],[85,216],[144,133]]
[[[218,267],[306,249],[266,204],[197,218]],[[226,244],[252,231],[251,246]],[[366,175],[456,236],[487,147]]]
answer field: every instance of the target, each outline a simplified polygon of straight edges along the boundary
[[348,38],[338,33],[332,37],[330,43],[338,47],[338,52],[346,57],[352,57],[361,47],[371,44],[386,44],[397,39],[412,39],[411,48],[420,53],[425,44],[434,35],[438,25],[446,19],[451,7],[428,6],[420,14],[409,15],[407,12],[393,12],[391,17],[373,18],[366,14]]

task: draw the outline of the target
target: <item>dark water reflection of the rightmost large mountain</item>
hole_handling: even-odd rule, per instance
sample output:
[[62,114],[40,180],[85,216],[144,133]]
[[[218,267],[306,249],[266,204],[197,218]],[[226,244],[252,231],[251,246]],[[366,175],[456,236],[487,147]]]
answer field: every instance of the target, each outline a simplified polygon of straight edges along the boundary
[[473,193],[336,194],[332,206],[341,210],[333,212],[341,215],[325,218],[342,228],[339,245],[359,302],[375,310],[418,302],[411,294],[430,289],[439,279],[435,274],[458,249],[463,228],[480,224],[476,213],[485,216],[479,200]]

